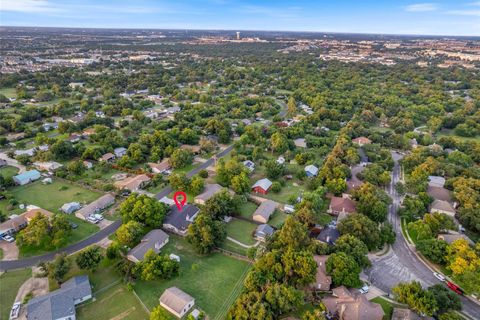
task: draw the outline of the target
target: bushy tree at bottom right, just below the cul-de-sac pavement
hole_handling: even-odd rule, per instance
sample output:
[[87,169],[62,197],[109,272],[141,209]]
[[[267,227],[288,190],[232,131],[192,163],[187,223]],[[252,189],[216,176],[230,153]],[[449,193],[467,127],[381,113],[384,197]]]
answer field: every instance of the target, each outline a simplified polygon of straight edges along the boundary
[[437,301],[433,292],[423,290],[420,282],[400,283],[392,288],[395,298],[418,312],[432,316],[438,310]]

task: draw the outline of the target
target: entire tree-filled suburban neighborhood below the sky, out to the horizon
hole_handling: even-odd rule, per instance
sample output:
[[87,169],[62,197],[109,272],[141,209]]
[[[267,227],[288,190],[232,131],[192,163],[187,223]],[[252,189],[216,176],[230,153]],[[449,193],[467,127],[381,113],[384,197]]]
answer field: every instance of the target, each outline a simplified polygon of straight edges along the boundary
[[478,40],[0,33],[0,319],[479,319]]

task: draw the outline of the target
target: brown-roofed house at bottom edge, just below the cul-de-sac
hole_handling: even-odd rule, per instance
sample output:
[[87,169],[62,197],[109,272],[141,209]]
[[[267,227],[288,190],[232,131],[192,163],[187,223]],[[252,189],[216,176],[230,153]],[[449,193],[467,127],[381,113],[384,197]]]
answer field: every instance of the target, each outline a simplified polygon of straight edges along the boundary
[[360,293],[352,293],[341,286],[332,290],[332,296],[322,299],[328,313],[339,320],[382,320],[385,313],[379,304],[370,302]]

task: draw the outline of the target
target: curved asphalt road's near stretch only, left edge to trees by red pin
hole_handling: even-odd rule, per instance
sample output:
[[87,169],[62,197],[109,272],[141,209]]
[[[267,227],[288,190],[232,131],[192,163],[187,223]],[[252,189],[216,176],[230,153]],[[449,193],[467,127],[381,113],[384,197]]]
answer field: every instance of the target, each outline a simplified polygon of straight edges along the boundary
[[91,237],[55,252],[47,253],[41,256],[20,259],[20,260],[0,261],[0,270],[8,271],[8,270],[14,270],[14,269],[33,267],[39,264],[40,262],[52,260],[55,257],[55,255],[58,253],[65,252],[67,254],[72,254],[74,252],[82,250],[83,248],[88,247],[89,245],[97,243],[98,241],[108,237],[110,234],[114,233],[118,229],[118,227],[120,227],[121,224],[122,222],[120,220],[117,220],[112,224],[110,224],[109,226],[107,226],[105,229],[98,231]]

